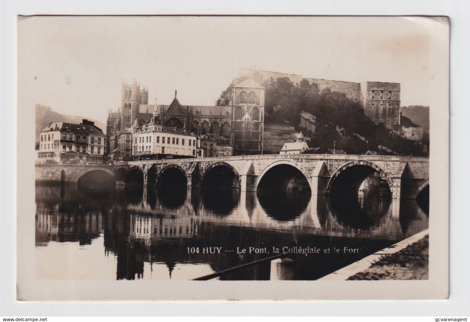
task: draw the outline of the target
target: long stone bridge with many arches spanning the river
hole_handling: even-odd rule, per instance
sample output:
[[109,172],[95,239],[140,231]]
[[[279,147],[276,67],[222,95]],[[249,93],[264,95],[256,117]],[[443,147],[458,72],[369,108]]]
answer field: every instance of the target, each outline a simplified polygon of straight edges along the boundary
[[390,187],[393,199],[416,198],[429,186],[428,158],[331,154],[246,155],[129,161],[116,165],[36,165],[36,180],[78,182],[80,177],[96,170],[106,172],[117,184],[124,184],[130,177],[140,177],[144,185],[155,184],[172,173],[185,178],[188,187],[203,184],[214,173],[229,173],[241,191],[257,191],[263,182],[269,185],[283,177],[286,184],[295,175],[313,195],[329,194],[335,184],[357,190],[365,177],[375,173]]

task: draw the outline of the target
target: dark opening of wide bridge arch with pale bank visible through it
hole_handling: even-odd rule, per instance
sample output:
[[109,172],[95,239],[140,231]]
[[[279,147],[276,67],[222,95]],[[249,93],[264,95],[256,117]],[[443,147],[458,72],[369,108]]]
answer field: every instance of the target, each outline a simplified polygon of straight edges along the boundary
[[359,194],[375,194],[390,198],[390,186],[378,171],[367,165],[353,165],[343,170],[332,182],[330,195],[332,199],[357,199]]

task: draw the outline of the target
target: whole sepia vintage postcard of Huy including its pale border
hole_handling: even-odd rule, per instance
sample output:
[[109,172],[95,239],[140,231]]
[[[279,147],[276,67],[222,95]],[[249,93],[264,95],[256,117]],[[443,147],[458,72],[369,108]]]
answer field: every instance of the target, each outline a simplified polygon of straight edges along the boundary
[[19,16],[17,299],[446,299],[448,51],[446,17]]

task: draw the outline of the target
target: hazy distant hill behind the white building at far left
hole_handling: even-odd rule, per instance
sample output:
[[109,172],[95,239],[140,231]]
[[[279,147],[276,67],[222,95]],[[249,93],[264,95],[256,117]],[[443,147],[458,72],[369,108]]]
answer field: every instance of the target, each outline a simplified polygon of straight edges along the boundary
[[50,107],[41,104],[36,104],[36,142],[39,141],[39,132],[44,130],[49,123],[66,122],[80,124],[83,119],[94,122],[94,125],[99,127],[106,133],[106,124],[100,121],[89,119],[86,116],[75,116],[60,114],[53,111]]

